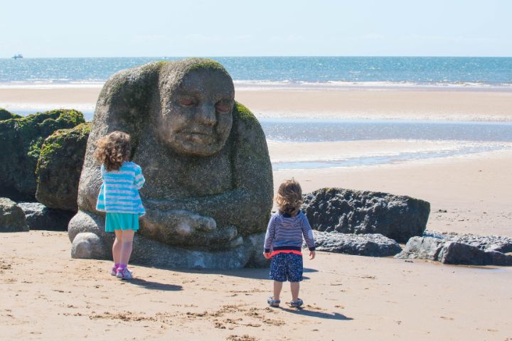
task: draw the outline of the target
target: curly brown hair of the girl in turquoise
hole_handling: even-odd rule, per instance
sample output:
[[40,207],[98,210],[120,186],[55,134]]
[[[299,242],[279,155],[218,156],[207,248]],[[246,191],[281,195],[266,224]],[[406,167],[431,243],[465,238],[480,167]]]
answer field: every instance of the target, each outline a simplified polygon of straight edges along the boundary
[[130,156],[130,136],[122,131],[112,131],[96,143],[95,158],[107,171],[117,171]]

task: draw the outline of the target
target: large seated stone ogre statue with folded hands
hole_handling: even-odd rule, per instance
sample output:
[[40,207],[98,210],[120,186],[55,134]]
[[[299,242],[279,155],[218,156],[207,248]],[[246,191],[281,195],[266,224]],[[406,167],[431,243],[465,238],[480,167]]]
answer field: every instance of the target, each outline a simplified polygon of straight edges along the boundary
[[146,178],[146,215],[132,261],[210,269],[265,264],[273,195],[265,134],[235,102],[225,68],[198,58],[122,70],[106,82],[87,141],[79,212],[68,227],[74,258],[111,257],[113,236],[95,211],[102,179],[93,153],[115,130],[132,136],[132,160]]

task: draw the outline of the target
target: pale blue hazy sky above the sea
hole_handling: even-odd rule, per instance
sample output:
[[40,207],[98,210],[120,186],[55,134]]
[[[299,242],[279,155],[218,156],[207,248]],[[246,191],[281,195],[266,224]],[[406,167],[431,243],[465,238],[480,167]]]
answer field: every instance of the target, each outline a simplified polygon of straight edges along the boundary
[[0,58],[512,56],[509,0],[2,1]]

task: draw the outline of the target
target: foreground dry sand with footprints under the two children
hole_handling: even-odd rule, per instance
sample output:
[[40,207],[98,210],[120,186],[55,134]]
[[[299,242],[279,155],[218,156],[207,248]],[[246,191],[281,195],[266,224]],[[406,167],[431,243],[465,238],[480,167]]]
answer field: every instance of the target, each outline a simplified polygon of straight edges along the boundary
[[1,340],[512,340],[507,268],[319,252],[295,310],[267,307],[267,269],[110,266],[65,232],[0,234]]

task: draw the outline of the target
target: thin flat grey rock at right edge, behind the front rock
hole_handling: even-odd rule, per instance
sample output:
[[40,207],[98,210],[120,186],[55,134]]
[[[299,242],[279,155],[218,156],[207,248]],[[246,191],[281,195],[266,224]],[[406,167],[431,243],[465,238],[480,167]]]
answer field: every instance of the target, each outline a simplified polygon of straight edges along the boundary
[[478,234],[457,234],[457,233],[441,233],[436,231],[425,230],[424,237],[434,237],[445,239],[450,242],[459,242],[478,247],[484,251],[498,251],[506,254],[512,252],[512,238],[503,236],[479,236]]

